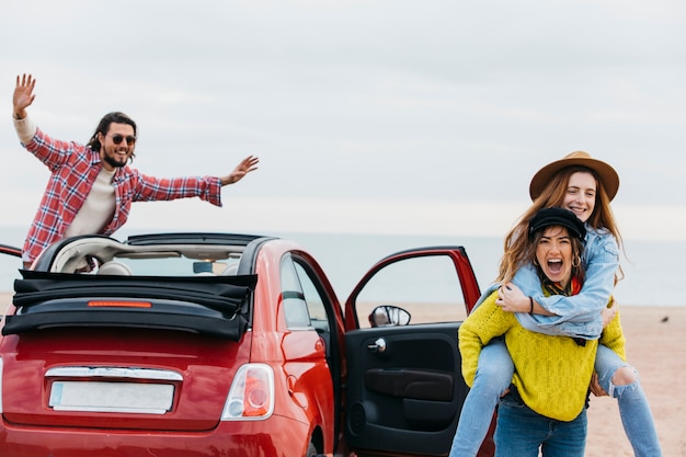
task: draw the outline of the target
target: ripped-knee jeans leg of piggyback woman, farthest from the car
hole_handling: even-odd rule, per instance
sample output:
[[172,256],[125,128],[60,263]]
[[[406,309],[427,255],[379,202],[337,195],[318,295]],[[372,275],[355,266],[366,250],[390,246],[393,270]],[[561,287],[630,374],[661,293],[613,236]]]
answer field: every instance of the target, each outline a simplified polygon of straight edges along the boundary
[[[481,361],[479,361],[481,362]],[[629,364],[607,346],[599,345],[595,356],[595,370],[603,389],[617,399],[619,415],[627,438],[633,447],[636,457],[661,457],[662,450],[658,441],[658,432],[650,411],[648,399],[639,382],[636,373],[636,381],[626,386],[615,386],[611,378],[617,369]]]

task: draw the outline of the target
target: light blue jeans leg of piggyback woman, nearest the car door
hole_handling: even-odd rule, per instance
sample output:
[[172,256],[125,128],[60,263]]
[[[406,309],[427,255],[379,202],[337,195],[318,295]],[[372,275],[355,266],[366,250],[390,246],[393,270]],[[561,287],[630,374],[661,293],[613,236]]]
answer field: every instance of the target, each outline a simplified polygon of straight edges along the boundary
[[483,346],[475,381],[462,404],[449,457],[477,455],[491,425],[495,405],[510,387],[513,374],[514,364],[503,338]]

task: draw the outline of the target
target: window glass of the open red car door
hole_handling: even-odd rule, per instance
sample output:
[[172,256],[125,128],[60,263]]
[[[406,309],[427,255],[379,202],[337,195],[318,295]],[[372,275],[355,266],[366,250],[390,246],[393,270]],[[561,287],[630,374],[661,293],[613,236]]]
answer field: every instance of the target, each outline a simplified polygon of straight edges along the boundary
[[359,327],[369,327],[369,313],[391,305],[410,312],[410,325],[465,320],[465,298],[455,265],[447,255],[403,259],[386,265],[356,298]]

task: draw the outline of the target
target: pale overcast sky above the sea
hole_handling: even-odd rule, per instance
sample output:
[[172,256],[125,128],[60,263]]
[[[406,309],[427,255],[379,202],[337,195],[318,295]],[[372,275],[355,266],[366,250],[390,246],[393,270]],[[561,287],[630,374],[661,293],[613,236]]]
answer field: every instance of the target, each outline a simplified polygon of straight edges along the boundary
[[686,239],[683,0],[7,0],[0,225],[48,175],[12,126],[22,72],[54,137],[129,114],[145,173],[261,158],[224,208],[138,204],[129,228],[502,236],[581,149],[619,172],[626,237]]

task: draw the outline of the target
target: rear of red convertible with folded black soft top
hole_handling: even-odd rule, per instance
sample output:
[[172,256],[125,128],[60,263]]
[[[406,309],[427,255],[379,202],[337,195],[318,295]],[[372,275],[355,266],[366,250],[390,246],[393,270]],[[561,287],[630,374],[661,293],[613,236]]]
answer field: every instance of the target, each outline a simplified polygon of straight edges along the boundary
[[0,455],[278,455],[308,436],[251,363],[256,277],[198,273],[23,272],[2,320]]

